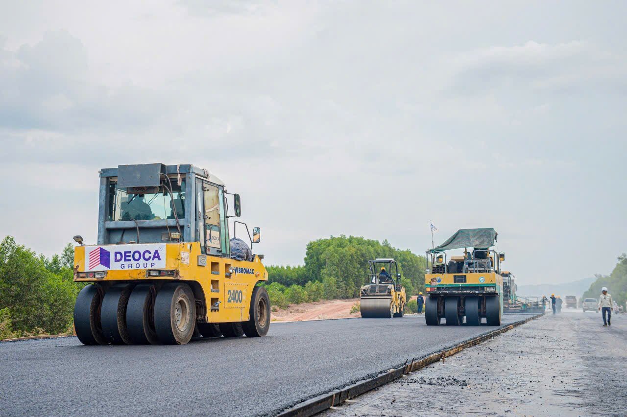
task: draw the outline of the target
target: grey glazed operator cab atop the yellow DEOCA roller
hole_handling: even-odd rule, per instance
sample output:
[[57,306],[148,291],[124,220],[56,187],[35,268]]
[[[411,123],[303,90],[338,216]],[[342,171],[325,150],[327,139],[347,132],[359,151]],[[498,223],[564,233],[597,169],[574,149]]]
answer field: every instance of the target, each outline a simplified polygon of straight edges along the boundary
[[[228,214],[224,182],[193,165],[119,165],[100,171],[98,244],[200,242],[203,254],[231,256],[228,217],[241,215],[232,194]],[[248,226],[241,222],[248,232]],[[258,228],[248,232],[259,242]]]

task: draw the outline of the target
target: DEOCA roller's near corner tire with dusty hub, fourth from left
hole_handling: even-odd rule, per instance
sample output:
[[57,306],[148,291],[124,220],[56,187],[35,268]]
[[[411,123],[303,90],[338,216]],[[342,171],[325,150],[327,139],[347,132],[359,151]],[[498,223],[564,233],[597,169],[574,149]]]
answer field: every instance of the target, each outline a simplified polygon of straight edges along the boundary
[[[177,320],[177,309],[181,314],[180,321]],[[154,323],[159,342],[189,342],[196,328],[196,299],[187,284],[168,282],[161,287],[155,298]]]

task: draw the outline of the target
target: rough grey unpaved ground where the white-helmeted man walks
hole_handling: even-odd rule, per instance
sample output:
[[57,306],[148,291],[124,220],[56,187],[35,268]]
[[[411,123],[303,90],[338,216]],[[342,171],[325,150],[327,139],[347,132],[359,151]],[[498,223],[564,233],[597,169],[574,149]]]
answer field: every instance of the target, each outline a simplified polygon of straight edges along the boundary
[[324,416],[626,416],[627,316],[562,310]]

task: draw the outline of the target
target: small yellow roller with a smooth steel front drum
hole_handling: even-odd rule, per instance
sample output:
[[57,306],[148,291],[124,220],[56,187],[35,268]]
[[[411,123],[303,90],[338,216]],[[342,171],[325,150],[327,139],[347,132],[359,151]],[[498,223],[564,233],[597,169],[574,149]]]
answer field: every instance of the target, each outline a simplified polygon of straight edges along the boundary
[[407,302],[401,274],[394,259],[368,261],[370,284],[361,287],[360,311],[364,318],[403,317]]

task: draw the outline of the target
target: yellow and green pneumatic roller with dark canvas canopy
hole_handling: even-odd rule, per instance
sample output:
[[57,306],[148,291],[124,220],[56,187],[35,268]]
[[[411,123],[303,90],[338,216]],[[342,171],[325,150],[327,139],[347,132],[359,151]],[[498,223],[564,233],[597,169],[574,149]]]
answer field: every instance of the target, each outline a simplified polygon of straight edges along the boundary
[[[501,262],[505,254],[492,248],[497,232],[492,228],[460,229],[446,242],[426,252],[424,317],[427,326],[478,326],[485,317],[500,326],[503,314]],[[472,251],[469,250],[472,248]],[[446,250],[464,249],[463,256],[447,259]]]

